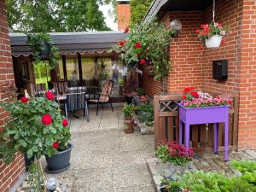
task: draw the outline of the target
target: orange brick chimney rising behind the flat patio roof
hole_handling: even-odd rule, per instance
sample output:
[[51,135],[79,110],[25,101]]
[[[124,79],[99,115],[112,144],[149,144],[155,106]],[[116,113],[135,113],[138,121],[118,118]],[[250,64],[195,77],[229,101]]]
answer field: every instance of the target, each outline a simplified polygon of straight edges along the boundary
[[124,31],[130,24],[131,19],[131,9],[129,2],[118,2],[117,4],[117,18],[118,18],[118,29],[119,31]]

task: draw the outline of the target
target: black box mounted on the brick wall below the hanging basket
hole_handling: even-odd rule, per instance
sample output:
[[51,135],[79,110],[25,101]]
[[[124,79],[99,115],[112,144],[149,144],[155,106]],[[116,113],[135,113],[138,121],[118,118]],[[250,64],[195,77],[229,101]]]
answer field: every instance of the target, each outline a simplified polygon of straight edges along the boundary
[[218,80],[228,79],[228,60],[212,61],[212,78]]

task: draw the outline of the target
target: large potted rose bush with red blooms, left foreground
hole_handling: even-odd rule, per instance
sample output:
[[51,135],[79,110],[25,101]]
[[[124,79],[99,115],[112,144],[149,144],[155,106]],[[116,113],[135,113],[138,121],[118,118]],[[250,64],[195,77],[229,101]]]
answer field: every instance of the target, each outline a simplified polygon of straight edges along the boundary
[[[73,146],[68,143],[70,131],[67,119],[61,116],[55,96],[49,91],[45,97],[29,99],[23,96],[14,102],[2,102],[1,106],[9,112],[10,119],[0,134],[0,157],[6,162],[11,162],[15,153],[20,151],[28,160],[32,160],[29,183],[34,191],[40,192],[41,185],[44,184],[43,177],[38,177],[43,175],[40,163],[42,155],[48,159],[49,170],[60,171],[69,164]],[[55,167],[50,164],[49,159],[59,154],[66,156],[58,159],[58,165]]]

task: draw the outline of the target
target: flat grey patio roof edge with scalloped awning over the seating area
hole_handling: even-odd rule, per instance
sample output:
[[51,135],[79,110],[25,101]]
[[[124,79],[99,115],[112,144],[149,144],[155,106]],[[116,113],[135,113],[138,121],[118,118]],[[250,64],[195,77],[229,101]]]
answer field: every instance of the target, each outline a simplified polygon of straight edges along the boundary
[[[55,46],[61,55],[103,53],[111,49],[113,44],[128,37],[123,32],[50,32]],[[31,55],[26,44],[26,34],[9,33],[12,55]]]

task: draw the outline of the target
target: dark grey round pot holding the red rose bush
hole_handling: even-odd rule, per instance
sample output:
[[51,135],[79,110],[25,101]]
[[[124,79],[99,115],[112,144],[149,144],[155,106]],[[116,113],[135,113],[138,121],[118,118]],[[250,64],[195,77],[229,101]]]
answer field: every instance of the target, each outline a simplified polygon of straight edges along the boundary
[[68,168],[73,145],[71,143],[68,143],[67,145],[68,148],[66,150],[58,152],[51,157],[45,154],[47,161],[46,172],[62,172]]

